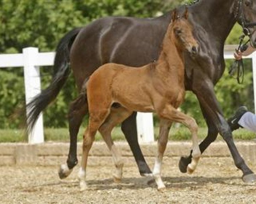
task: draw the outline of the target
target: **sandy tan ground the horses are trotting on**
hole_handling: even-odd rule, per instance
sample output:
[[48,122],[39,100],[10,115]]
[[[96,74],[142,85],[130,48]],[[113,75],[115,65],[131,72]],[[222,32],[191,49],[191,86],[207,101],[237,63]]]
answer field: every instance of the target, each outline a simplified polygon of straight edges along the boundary
[[[148,159],[152,167],[154,159]],[[113,184],[109,166],[87,167],[88,190],[79,192],[78,167],[60,181],[58,167],[0,167],[0,203],[3,204],[79,204],[79,203],[180,203],[230,204],[256,203],[256,186],[241,181],[231,158],[203,158],[193,175],[177,169],[178,158],[165,158],[163,180],[167,190],[140,177],[134,163],[125,164],[121,184]],[[250,165],[250,164],[249,164]],[[256,166],[251,166],[256,172]]]

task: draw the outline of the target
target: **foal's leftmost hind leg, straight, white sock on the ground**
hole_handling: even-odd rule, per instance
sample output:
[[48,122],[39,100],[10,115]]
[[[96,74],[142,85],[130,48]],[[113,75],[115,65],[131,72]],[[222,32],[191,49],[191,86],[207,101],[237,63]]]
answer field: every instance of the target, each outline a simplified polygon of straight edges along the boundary
[[86,185],[86,166],[87,166],[87,159],[88,159],[88,153],[90,151],[90,148],[92,147],[93,141],[95,139],[95,134],[99,127],[102,125],[102,123],[105,121],[109,114],[108,109],[100,108],[95,109],[92,108],[92,111],[90,110],[90,118],[89,118],[89,124],[84,132],[84,139],[83,139],[83,147],[82,147],[82,158],[81,158],[81,168],[79,170],[79,179],[80,179],[80,190],[83,191],[87,188]]

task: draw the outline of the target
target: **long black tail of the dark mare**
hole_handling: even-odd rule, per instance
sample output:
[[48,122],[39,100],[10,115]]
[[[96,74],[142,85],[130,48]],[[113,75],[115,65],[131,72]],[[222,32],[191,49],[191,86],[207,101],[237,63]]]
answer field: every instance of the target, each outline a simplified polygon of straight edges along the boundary
[[52,82],[41,94],[35,96],[35,98],[26,105],[27,110],[29,110],[27,113],[28,131],[32,130],[41,111],[57,97],[64,83],[67,81],[67,77],[70,74],[70,68],[68,66],[70,62],[70,48],[80,30],[81,28],[75,28],[61,38],[56,48]]

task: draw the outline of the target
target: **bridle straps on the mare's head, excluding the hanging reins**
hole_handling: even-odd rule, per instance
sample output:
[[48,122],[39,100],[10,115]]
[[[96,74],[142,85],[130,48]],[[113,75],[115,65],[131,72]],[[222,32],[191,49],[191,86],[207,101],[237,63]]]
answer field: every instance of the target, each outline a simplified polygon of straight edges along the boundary
[[238,0],[237,13],[235,17],[237,20],[240,20],[244,34],[248,37],[251,37],[256,29],[254,29],[253,33],[250,33],[248,28],[254,28],[256,26],[256,22],[247,23],[247,20],[244,17],[243,0]]

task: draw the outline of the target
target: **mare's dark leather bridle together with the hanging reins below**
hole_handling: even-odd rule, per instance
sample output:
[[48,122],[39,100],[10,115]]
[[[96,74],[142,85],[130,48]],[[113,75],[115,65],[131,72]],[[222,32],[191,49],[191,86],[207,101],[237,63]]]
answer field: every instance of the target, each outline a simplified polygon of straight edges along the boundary
[[[248,28],[254,28],[256,26],[256,22],[253,22],[253,23],[247,23],[246,22],[245,17],[244,17],[243,0],[238,1],[237,13],[236,13],[235,17],[238,20],[241,21],[241,26],[243,28],[243,33],[244,33],[244,35],[241,35],[239,37],[240,42],[239,42],[238,48],[236,49],[236,53],[238,53],[238,51],[244,52],[248,48],[247,44],[248,44],[248,42],[250,42],[251,35],[256,31],[256,29],[254,29],[253,33],[250,33]],[[247,40],[247,42],[242,44],[245,36],[248,36],[249,40]],[[230,76],[233,76],[233,74],[236,71],[237,71],[236,80],[239,84],[241,84],[241,83],[244,82],[244,62],[243,62],[243,58],[241,58],[239,60],[235,59],[235,61],[233,62],[233,64],[229,68],[228,74]]]

